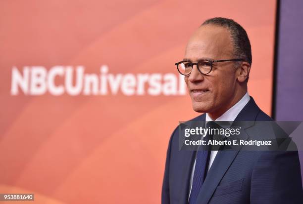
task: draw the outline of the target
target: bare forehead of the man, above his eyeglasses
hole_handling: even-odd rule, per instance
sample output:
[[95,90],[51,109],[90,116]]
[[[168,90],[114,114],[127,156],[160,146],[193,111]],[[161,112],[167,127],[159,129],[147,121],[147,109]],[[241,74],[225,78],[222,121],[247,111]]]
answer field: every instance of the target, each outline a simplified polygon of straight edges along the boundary
[[230,33],[226,28],[205,25],[197,29],[192,35],[185,49],[185,59],[220,60],[232,56],[233,46]]

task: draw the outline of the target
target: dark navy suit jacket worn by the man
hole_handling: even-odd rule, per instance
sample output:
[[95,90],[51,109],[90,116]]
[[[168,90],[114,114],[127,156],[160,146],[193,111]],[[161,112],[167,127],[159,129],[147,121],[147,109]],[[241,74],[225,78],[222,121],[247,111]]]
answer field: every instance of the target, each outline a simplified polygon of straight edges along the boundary
[[[205,121],[205,114],[193,119]],[[272,121],[253,98],[235,121]],[[246,127],[258,131],[252,123]],[[179,151],[178,128],[169,140],[162,204],[187,204],[195,151]],[[219,151],[197,204],[303,204],[298,151]]]

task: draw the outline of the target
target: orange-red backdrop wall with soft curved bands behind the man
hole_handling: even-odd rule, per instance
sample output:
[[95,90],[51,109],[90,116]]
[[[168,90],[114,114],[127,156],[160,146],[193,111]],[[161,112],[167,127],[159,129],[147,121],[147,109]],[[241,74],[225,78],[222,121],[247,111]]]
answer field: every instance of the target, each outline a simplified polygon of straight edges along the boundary
[[[0,193],[35,203],[158,204],[168,139],[188,95],[11,95],[24,66],[174,73],[207,18],[233,18],[253,49],[249,93],[271,110],[275,0],[0,2]],[[61,82],[58,78],[57,83]]]

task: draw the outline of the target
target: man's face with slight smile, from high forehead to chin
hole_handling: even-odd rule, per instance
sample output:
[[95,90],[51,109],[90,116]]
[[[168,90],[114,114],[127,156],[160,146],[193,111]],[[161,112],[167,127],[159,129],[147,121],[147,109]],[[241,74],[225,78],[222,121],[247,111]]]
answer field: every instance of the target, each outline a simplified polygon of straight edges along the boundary
[[[200,59],[234,59],[230,33],[226,28],[205,25],[189,40],[184,59],[197,62]],[[212,71],[202,75],[194,65],[185,82],[190,92],[193,109],[214,113],[226,109],[236,95],[237,77],[235,62],[213,63]]]

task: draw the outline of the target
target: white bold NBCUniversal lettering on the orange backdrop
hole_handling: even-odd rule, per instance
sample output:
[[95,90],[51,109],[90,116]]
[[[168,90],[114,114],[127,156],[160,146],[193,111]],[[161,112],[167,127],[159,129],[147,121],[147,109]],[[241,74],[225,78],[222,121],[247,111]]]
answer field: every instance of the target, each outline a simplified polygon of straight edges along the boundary
[[173,73],[109,73],[107,65],[100,73],[85,73],[84,66],[24,66],[11,70],[11,95],[185,95],[184,76]]

